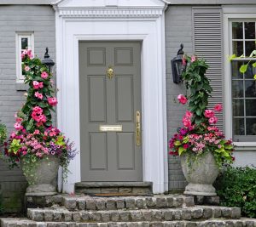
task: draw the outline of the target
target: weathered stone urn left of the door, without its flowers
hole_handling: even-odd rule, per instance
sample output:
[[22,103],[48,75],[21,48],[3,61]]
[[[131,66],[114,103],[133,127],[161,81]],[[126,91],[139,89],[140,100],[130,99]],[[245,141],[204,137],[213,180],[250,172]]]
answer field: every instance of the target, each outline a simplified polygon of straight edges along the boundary
[[28,182],[26,196],[52,196],[55,195],[59,158],[57,156],[44,156],[36,163],[21,162],[21,169]]

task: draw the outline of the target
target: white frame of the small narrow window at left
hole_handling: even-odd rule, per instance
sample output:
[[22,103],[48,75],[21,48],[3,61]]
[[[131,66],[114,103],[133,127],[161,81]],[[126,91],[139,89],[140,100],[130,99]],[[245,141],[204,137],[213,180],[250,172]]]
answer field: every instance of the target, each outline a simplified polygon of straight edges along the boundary
[[22,60],[21,60],[21,38],[27,38],[28,49],[34,54],[34,33],[31,32],[16,32],[16,82],[23,83],[24,76],[22,75]]

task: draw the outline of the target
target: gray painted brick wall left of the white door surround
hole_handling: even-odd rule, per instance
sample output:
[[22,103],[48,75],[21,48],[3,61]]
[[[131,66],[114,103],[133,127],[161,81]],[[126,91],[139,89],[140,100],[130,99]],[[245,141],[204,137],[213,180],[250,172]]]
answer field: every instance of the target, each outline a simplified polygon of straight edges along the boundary
[[[50,6],[2,5],[0,6],[0,120],[14,129],[15,112],[25,101],[26,87],[15,82],[16,79],[16,31],[34,32],[34,50],[39,58],[44,57],[49,48],[50,57],[55,60],[55,12]],[[54,117],[55,122],[55,117]],[[2,190],[7,211],[20,210],[22,193],[26,180],[20,169],[9,170],[0,161],[0,190]]]

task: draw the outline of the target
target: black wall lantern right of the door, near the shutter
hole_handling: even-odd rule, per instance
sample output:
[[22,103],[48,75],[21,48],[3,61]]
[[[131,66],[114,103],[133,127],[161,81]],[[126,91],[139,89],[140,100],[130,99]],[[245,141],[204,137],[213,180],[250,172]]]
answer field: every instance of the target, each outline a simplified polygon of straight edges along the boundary
[[180,49],[177,51],[177,57],[171,60],[173,82],[182,82],[183,71],[186,70],[186,64],[183,64],[183,43],[180,44]]

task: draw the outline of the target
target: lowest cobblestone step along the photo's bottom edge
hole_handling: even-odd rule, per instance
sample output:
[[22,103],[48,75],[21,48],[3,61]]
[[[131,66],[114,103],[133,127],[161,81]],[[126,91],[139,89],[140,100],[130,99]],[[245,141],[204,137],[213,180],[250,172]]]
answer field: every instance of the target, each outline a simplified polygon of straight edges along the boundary
[[2,227],[255,227],[256,219],[211,219],[206,221],[165,221],[165,222],[35,222],[20,218],[1,218]]

